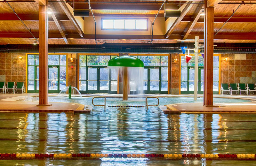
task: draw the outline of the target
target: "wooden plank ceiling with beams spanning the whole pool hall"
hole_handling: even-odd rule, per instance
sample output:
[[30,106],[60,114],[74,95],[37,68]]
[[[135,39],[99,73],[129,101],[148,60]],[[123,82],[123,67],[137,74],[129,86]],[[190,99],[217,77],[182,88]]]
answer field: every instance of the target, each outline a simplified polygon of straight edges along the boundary
[[[57,0],[52,0],[57,1]],[[83,0],[75,7],[86,7]],[[8,0],[7,0],[8,2]],[[193,39],[199,35],[203,39],[204,16],[200,16],[203,1],[181,1],[187,7],[182,18],[178,18],[169,31],[161,36],[154,35],[153,43],[172,43],[180,39]],[[192,4],[184,4],[190,2]],[[179,3],[179,1],[169,1]],[[233,10],[241,1],[221,1],[214,7],[214,32],[218,31],[224,22],[233,14]],[[240,6],[228,23],[222,27],[214,37],[215,42],[255,42],[256,41],[256,2],[247,2]],[[9,1],[15,12],[23,20],[24,24],[38,37],[38,4],[36,2]],[[94,35],[81,33],[75,22],[69,19],[65,8],[61,6],[72,3],[49,3],[53,10],[53,16],[49,15],[49,44],[95,44]],[[131,0],[93,0],[91,1],[95,16],[106,17],[155,17],[162,1],[131,1]],[[82,7],[81,7],[82,6]],[[87,5],[88,6],[88,5]],[[54,16],[56,17],[54,19]],[[159,12],[158,17],[164,17],[164,11]],[[57,21],[56,21],[57,20]],[[91,25],[94,26],[94,25]],[[123,40],[125,39],[125,40]],[[13,13],[9,5],[0,3],[0,44],[31,44],[35,41],[28,29]],[[148,43],[151,35],[97,35],[97,43]]]

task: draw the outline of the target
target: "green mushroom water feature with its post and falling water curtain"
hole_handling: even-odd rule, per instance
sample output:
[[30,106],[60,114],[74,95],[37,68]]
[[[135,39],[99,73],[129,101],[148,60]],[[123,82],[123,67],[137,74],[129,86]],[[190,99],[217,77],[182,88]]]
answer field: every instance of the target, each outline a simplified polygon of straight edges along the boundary
[[128,100],[130,90],[136,94],[143,91],[144,64],[140,59],[131,56],[114,57],[108,61],[108,68],[109,72],[114,70],[118,73],[123,83],[123,101]]

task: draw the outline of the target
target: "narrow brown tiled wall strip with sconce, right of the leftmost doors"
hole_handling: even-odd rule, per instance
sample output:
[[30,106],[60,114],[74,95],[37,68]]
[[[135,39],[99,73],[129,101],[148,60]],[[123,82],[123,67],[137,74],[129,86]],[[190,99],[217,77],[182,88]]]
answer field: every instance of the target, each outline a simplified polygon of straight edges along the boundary
[[[70,58],[73,57],[73,62],[70,61]],[[77,54],[68,54],[68,83],[67,86],[71,85],[72,87],[77,88]],[[73,69],[71,69],[73,66]]]

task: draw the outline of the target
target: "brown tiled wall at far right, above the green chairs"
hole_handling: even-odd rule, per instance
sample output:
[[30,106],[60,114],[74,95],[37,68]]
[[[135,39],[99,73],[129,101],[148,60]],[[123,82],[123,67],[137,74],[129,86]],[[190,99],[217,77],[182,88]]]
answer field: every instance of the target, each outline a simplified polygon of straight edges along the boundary
[[256,83],[256,54],[222,54],[220,60],[221,83]]

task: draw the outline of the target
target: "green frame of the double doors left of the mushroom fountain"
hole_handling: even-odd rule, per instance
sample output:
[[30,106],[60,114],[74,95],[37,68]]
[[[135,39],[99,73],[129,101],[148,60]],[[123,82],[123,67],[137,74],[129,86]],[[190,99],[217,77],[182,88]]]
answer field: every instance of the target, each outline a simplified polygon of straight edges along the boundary
[[[109,81],[109,72],[108,72],[108,90],[100,90],[100,68],[105,68],[107,66],[87,66],[86,67],[86,91],[89,94],[94,94],[94,93],[109,93],[110,89],[110,81]],[[89,68],[96,68],[97,69],[97,90],[88,90],[88,81],[89,81]]]

